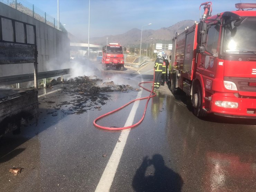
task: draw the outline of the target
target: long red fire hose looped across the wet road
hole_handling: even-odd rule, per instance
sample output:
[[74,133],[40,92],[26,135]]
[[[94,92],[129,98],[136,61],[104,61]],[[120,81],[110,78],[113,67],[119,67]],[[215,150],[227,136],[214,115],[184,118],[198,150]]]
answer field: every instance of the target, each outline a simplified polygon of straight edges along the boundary
[[[117,108],[117,109],[115,109],[115,110],[113,110],[113,111],[110,111],[110,112],[108,112],[108,113],[105,113],[104,115],[101,115],[101,116],[97,117],[96,119],[94,119],[93,125],[96,126],[96,127],[98,127],[98,128],[107,129],[107,130],[123,130],[123,129],[130,129],[130,128],[132,128],[132,127],[135,127],[135,126],[139,125],[139,124],[143,121],[143,119],[144,119],[144,117],[145,117],[149,99],[156,96],[156,93],[153,91],[153,90],[154,90],[154,81],[155,81],[155,69],[154,69],[154,78],[153,78],[153,81],[146,81],[146,82],[141,82],[141,83],[139,83],[139,86],[140,86],[141,88],[143,88],[143,89],[145,89],[146,91],[149,91],[149,92],[150,92],[150,94],[148,95],[148,97],[142,97],[142,98],[134,99],[134,100],[132,100],[132,101],[126,103],[126,104],[123,105],[122,107],[119,107],[119,108]],[[142,83],[153,83],[153,86],[152,86],[151,91],[150,91],[149,89],[144,88],[144,87],[141,85]],[[154,93],[154,94],[152,95],[152,93]],[[101,119],[101,118],[103,118],[103,117],[105,117],[105,116],[108,116],[108,115],[110,115],[111,113],[114,113],[114,112],[116,112],[116,111],[119,111],[120,109],[122,109],[122,108],[128,106],[130,103],[132,103],[132,102],[134,102],[134,101],[142,100],[142,99],[147,99],[147,102],[146,102],[146,106],[145,106],[145,109],[144,109],[144,113],[143,113],[141,119],[140,119],[136,124],[133,124],[133,125],[128,126],[128,127],[115,127],[115,128],[114,128],[114,127],[104,127],[104,126],[100,126],[100,125],[98,125],[98,124],[96,123],[99,119]]]

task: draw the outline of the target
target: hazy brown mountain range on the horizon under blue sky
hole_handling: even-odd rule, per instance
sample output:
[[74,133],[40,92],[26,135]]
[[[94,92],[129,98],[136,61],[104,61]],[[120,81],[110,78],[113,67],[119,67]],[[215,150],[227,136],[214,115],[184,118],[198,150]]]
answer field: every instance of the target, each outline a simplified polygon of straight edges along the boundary
[[[177,22],[176,24],[170,27],[163,27],[157,30],[143,30],[142,33],[142,47],[145,47],[147,44],[147,40],[153,38],[152,40],[148,40],[149,44],[172,44],[172,39],[177,33],[182,33],[186,27],[191,27],[194,25],[195,21],[193,20],[184,20]],[[88,39],[79,40],[72,34],[68,33],[68,37],[70,38],[70,42],[77,42],[77,43],[88,43]],[[140,37],[141,37],[141,30],[137,28],[133,28],[127,31],[124,34],[119,35],[108,35],[103,37],[92,37],[90,38],[90,44],[95,45],[106,45],[108,37],[108,43],[119,43],[124,46],[129,45],[140,45]]]

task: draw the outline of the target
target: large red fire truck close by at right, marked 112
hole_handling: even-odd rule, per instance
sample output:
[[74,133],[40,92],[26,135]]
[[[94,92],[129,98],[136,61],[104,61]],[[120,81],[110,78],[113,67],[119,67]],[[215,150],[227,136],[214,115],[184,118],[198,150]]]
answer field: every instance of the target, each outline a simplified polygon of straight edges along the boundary
[[171,91],[184,91],[197,117],[256,118],[256,4],[214,16],[202,6],[200,22],[173,38]]

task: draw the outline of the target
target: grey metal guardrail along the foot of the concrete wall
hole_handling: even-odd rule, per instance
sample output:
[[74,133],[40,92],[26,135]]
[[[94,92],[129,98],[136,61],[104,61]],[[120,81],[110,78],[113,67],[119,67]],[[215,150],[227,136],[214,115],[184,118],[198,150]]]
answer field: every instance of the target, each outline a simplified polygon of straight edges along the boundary
[[[37,77],[38,79],[45,79],[49,77],[55,77],[58,75],[70,74],[71,70],[72,70],[71,68],[66,68],[61,70],[38,72]],[[28,81],[34,81],[34,73],[0,76],[0,85],[10,85],[10,84],[23,83]]]

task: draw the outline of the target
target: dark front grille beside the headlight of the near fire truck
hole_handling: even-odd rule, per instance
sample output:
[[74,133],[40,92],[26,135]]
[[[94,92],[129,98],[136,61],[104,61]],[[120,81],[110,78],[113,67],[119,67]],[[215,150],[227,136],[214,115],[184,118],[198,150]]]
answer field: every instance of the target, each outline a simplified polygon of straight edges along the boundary
[[238,91],[256,92],[256,78],[224,77],[224,81],[234,82]]

